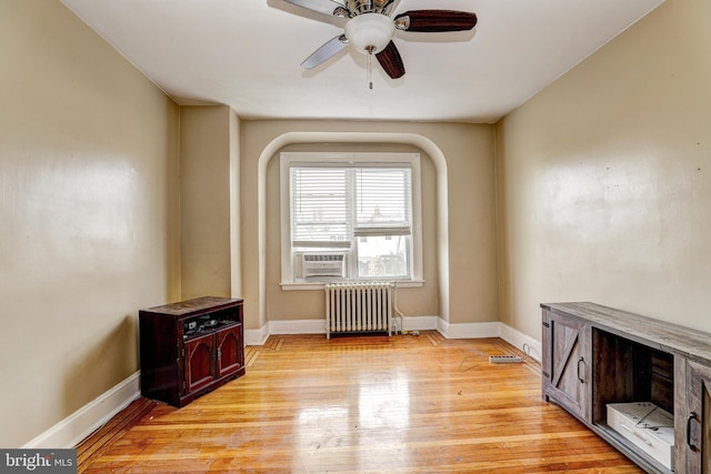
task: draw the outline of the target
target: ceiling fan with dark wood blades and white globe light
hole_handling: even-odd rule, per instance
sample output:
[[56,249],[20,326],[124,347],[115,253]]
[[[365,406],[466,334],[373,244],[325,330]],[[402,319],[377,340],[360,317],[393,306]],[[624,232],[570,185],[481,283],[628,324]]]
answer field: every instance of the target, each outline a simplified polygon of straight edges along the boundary
[[[302,63],[312,69],[328,61],[349,44],[356,50],[375,56],[392,79],[404,74],[404,64],[392,42],[395,31],[444,32],[467,31],[477,24],[477,14],[454,10],[413,10],[391,18],[399,0],[286,0],[289,3],[320,13],[347,19],[343,34],[317,49]],[[372,88],[372,83],[371,83]]]

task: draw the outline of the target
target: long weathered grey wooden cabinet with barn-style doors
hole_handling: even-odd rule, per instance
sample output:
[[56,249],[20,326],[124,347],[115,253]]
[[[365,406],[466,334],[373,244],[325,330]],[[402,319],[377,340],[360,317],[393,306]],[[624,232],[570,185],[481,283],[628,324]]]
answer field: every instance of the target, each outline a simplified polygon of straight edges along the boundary
[[[649,473],[711,474],[711,334],[594,303],[541,307],[545,401]],[[651,430],[667,430],[669,444],[651,447],[641,422],[615,430],[610,410],[630,405],[668,416]]]

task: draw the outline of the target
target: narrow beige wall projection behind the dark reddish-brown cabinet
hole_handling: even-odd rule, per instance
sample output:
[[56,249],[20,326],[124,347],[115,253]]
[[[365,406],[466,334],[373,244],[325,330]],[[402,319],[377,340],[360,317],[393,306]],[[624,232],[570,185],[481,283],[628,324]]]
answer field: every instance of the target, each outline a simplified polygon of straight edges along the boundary
[[180,108],[182,300],[240,291],[239,283],[232,288],[232,269],[239,269],[239,259],[232,262],[232,249],[239,250],[238,128],[227,105]]

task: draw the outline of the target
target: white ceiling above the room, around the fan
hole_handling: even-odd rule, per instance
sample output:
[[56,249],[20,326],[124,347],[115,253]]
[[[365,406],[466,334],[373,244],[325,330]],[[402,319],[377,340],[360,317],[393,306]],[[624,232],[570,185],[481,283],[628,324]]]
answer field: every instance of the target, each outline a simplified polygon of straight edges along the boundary
[[399,31],[392,80],[347,48],[299,64],[344,20],[283,0],[61,0],[180,104],[246,119],[495,122],[663,0],[401,0],[475,12],[473,31]]

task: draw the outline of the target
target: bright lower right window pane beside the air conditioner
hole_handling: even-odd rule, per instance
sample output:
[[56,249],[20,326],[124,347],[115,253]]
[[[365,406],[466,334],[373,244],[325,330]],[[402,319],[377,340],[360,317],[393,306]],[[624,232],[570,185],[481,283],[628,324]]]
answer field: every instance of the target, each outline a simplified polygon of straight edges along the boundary
[[408,235],[358,238],[358,276],[407,276]]

